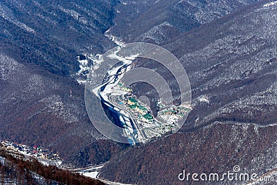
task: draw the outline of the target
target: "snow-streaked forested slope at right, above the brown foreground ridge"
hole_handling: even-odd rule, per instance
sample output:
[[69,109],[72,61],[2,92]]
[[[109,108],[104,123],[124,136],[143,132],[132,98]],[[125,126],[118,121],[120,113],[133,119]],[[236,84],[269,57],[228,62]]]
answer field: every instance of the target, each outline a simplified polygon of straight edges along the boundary
[[[188,124],[276,123],[277,7],[265,6],[267,2],[235,11],[167,45],[184,64],[193,89],[195,111]],[[202,103],[202,98],[208,101]]]

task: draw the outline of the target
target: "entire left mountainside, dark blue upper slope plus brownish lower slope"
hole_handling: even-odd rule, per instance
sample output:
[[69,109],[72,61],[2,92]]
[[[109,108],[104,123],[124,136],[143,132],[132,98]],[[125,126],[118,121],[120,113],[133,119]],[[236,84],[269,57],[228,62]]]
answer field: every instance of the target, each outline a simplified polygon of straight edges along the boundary
[[[44,145],[65,159],[98,148],[93,162],[121,148],[92,126],[84,86],[76,81],[77,55],[114,46],[104,32],[116,1],[0,2],[0,138]],[[111,148],[114,148],[111,150]],[[75,161],[76,162],[76,161]],[[78,165],[90,163],[76,162]]]

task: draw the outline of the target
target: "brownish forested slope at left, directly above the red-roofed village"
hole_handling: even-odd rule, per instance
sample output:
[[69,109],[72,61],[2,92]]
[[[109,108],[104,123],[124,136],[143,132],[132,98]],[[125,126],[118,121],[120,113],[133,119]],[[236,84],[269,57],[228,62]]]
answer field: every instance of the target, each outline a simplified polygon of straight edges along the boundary
[[88,145],[102,146],[96,151],[102,158],[93,158],[95,163],[109,159],[110,147],[120,148],[111,141],[98,141],[104,137],[90,123],[83,86],[74,79],[20,64],[6,55],[0,55],[0,61],[1,139],[44,145],[66,159]]

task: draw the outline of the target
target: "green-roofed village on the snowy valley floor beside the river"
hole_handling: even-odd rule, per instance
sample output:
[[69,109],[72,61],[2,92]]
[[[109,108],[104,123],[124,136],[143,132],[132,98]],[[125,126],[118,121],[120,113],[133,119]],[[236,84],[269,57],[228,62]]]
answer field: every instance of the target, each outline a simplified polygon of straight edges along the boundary
[[185,114],[188,114],[191,109],[188,105],[166,107],[159,101],[157,102],[157,107],[160,109],[158,121],[152,115],[150,107],[139,102],[136,96],[132,94],[132,89],[125,87],[122,82],[119,82],[112,89],[109,94],[109,100],[116,103],[121,109],[131,112],[139,128],[143,130],[148,139],[172,131],[175,123],[183,118]]

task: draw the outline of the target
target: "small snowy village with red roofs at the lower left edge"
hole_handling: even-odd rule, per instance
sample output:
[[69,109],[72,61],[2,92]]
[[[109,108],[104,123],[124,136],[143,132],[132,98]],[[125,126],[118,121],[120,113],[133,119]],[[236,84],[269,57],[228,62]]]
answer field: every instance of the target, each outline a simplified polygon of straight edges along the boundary
[[10,141],[1,141],[1,150],[6,150],[7,152],[14,155],[24,155],[26,158],[34,157],[42,164],[48,166],[60,166],[62,164],[62,158],[59,157],[55,152],[51,152],[44,148],[44,146],[26,146],[19,143],[12,143]]

